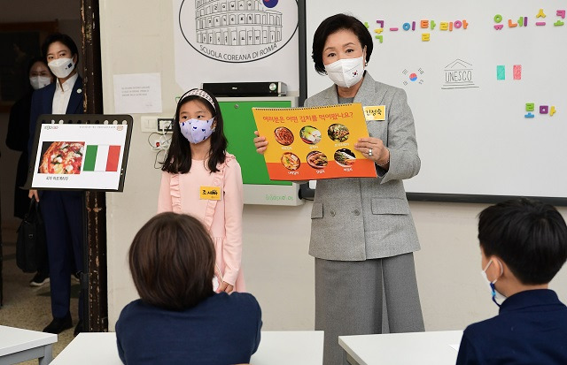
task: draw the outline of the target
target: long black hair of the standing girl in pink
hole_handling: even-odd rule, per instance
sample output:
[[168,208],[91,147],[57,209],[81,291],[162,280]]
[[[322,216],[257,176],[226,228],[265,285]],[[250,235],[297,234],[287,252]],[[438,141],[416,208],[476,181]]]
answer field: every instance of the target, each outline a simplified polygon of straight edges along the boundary
[[[187,93],[192,90],[189,90]],[[173,135],[171,136],[171,144],[169,145],[169,149],[167,149],[166,159],[161,166],[162,171],[167,171],[169,173],[187,173],[190,171],[191,151],[189,141],[187,141],[181,133],[181,127],[179,126],[179,110],[181,110],[181,107],[184,103],[189,103],[191,100],[198,100],[199,102],[205,104],[206,108],[211,112],[216,120],[214,132],[210,137],[211,151],[207,163],[209,171],[219,171],[216,167],[217,164],[224,163],[224,160],[226,158],[225,151],[227,149],[228,141],[223,132],[224,122],[222,121],[221,109],[214,95],[207,92],[206,90],[203,91],[211,96],[211,99],[213,99],[214,107],[205,98],[198,95],[185,96],[187,93],[185,93],[179,100],[179,103],[177,103],[174,123],[172,125]]]

